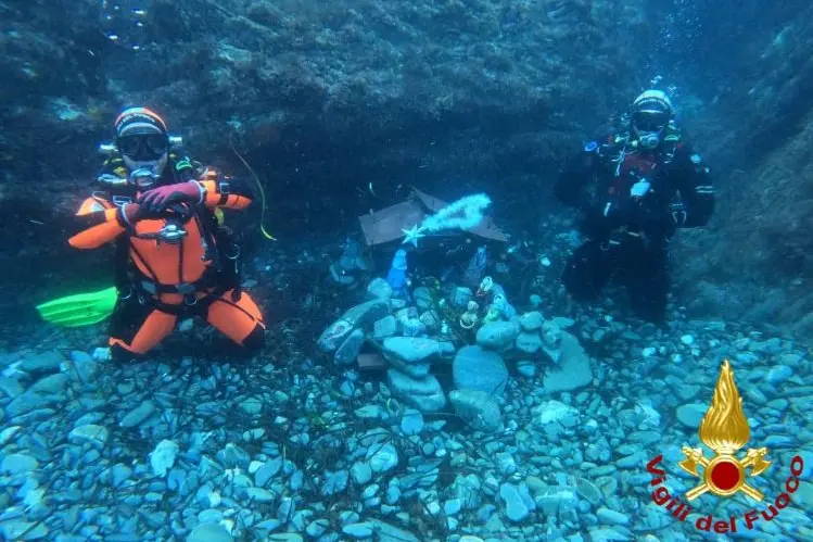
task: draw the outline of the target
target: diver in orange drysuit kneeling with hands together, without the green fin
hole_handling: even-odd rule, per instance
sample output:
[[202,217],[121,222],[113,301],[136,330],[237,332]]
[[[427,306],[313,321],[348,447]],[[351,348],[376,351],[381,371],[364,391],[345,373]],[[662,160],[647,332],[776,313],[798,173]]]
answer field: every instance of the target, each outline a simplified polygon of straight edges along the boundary
[[116,243],[118,301],[111,317],[113,358],[157,345],[179,317],[201,316],[251,354],[264,344],[259,308],[240,288],[240,249],[218,211],[245,209],[251,192],[179,152],[179,138],[145,108],[125,110],[93,192],[77,216],[77,249]]

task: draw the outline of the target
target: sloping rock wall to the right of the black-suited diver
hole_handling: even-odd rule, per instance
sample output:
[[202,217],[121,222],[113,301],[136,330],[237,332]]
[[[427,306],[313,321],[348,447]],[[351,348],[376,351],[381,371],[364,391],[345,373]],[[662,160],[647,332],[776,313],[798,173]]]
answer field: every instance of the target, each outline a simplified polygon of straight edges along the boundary
[[[759,35],[758,35],[759,36]],[[755,40],[737,85],[696,130],[716,162],[720,205],[683,236],[682,298],[693,314],[813,331],[813,8]]]

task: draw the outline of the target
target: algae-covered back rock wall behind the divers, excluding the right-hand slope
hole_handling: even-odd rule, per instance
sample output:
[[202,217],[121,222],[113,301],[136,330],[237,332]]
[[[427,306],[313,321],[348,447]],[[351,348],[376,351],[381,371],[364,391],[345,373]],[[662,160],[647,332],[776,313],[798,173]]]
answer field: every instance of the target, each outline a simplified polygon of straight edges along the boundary
[[292,214],[319,206],[306,187],[350,193],[334,217],[369,180],[550,165],[637,90],[627,43],[651,31],[643,1],[157,0],[136,39],[131,15],[73,4],[0,4],[10,185],[84,181],[115,112],[149,103],[207,160],[237,164],[233,139]]

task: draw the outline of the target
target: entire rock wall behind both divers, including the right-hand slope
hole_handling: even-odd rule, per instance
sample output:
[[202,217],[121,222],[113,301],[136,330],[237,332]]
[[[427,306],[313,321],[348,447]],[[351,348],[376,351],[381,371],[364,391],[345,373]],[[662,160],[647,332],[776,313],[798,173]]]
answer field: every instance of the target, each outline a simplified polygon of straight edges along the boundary
[[703,27],[664,34],[686,5],[119,4],[0,1],[4,280],[65,259],[60,235],[125,105],[153,105],[195,156],[244,173],[233,144],[287,238],[353,229],[409,184],[447,198],[488,189],[533,235],[559,210],[546,184],[563,154],[669,66],[696,94],[683,97],[686,124],[721,189],[712,225],[676,249],[681,301],[696,316],[776,323],[813,308],[810,7],[747,1],[732,17],[733,4],[701,2]]

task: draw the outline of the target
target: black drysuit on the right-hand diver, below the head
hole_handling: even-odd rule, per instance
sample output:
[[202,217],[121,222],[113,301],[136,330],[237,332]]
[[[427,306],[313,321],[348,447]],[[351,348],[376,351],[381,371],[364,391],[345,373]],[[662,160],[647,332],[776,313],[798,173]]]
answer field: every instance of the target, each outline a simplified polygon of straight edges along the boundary
[[678,228],[704,226],[714,211],[709,168],[673,129],[655,150],[627,135],[592,142],[555,185],[582,212],[586,241],[562,275],[580,301],[595,300],[610,278],[626,287],[635,313],[662,324],[670,287],[669,241]]

